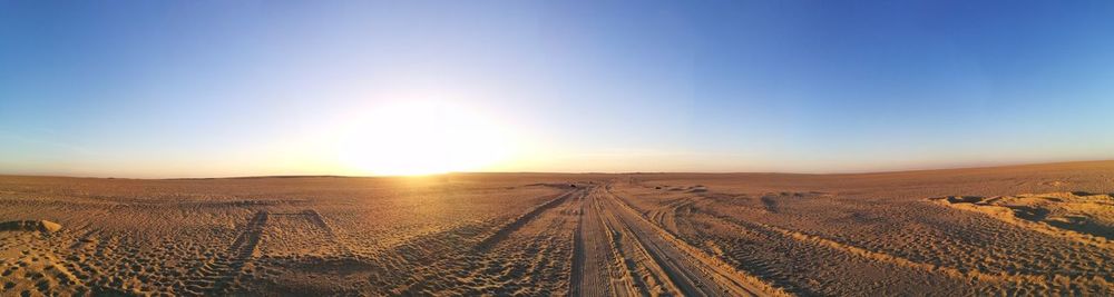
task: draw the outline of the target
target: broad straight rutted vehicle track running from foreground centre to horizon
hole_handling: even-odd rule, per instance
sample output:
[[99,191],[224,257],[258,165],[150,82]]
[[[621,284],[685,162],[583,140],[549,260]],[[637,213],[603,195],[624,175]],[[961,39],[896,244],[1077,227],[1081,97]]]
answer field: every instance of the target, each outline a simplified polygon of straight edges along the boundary
[[573,296],[784,295],[654,225],[608,186],[592,189],[580,207]]

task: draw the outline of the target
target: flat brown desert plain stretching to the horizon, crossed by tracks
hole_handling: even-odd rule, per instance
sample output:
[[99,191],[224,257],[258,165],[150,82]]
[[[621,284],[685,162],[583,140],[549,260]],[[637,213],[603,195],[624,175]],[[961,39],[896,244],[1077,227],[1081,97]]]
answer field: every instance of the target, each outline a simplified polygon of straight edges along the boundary
[[0,177],[0,295],[1114,295],[1114,161]]

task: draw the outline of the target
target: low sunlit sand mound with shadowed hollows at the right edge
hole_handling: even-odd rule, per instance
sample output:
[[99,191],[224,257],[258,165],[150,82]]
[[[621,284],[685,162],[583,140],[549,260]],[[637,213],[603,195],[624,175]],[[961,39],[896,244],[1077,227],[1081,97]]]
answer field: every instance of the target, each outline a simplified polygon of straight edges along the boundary
[[1107,194],[1076,191],[990,198],[950,196],[930,200],[949,207],[988,214],[1024,227],[1048,228],[1098,239],[1102,242],[1114,240],[1114,196]]

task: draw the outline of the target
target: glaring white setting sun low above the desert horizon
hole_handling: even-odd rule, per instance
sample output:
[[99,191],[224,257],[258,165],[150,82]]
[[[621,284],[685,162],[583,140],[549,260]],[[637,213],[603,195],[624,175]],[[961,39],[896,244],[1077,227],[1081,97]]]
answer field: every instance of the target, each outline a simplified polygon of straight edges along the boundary
[[479,170],[502,159],[510,147],[489,117],[446,102],[378,106],[349,128],[340,161],[380,176]]

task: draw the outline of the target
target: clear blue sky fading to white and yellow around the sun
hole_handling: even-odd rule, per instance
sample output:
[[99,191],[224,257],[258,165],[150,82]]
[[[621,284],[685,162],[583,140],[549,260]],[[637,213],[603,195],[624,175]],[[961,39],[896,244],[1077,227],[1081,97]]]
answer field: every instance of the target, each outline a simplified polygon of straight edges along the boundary
[[0,174],[1114,159],[1111,1],[3,1]]

